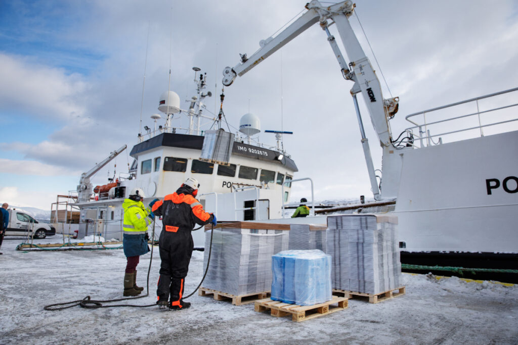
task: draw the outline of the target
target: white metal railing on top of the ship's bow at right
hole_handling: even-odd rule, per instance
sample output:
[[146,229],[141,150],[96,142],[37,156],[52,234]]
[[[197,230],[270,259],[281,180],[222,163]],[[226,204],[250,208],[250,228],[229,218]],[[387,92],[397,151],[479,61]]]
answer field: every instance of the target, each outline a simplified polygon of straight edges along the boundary
[[445,137],[454,142],[518,130],[517,106],[515,87],[407,115],[414,126],[405,129],[405,144],[426,147],[442,144]]

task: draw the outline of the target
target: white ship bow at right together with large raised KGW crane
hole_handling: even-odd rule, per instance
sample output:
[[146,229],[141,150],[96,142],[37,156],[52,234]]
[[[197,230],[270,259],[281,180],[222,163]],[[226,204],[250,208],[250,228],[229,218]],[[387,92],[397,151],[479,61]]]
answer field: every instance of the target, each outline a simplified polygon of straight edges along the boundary
[[[355,4],[348,0],[325,6],[313,0],[305,7],[306,12],[275,37],[261,40],[255,53],[240,54],[237,65],[226,67],[223,85],[232,85],[307,28],[320,25],[343,78],[352,85],[350,93],[375,199],[370,204],[321,213],[391,212],[399,219],[402,263],[413,264],[415,269],[451,266],[457,272],[458,267],[470,267],[479,279],[488,277],[487,272],[494,279],[499,273],[514,271],[506,279],[516,282],[518,88],[407,115],[409,127],[395,136],[390,123],[399,98],[383,98],[376,72],[349,22]],[[349,63],[330,33],[332,26]],[[373,166],[358,94],[363,96],[383,150],[381,171]],[[301,221],[325,223],[325,217]]]

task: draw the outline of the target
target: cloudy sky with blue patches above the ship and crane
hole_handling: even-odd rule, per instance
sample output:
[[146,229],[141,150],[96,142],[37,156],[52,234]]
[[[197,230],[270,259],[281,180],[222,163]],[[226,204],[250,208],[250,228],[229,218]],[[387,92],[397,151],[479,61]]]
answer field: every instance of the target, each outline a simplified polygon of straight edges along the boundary
[[[170,64],[170,89],[184,109],[183,100],[195,91],[193,66],[207,72],[207,90],[219,95],[223,68],[236,65],[239,53],[250,56],[304,5],[0,2],[0,202],[50,209],[56,194],[76,189],[82,172],[123,144],[136,144],[141,106],[142,124],[152,127],[149,116],[168,88]],[[517,86],[516,1],[358,0],[356,11],[350,18],[356,35],[378,77],[381,70],[400,97],[394,137],[410,127],[410,113]],[[334,26],[331,31],[338,37]],[[225,88],[223,107],[234,127],[250,111],[263,130],[293,131],[284,148],[299,168],[295,178],[313,178],[316,200],[371,198],[351,87],[314,25]],[[379,141],[359,99],[374,165],[381,169]],[[206,113],[217,107],[219,97],[209,98]],[[272,134],[259,138],[275,144]],[[127,171],[128,154],[97,173],[94,185],[106,183],[113,163]],[[308,184],[294,187],[293,198],[308,196]]]

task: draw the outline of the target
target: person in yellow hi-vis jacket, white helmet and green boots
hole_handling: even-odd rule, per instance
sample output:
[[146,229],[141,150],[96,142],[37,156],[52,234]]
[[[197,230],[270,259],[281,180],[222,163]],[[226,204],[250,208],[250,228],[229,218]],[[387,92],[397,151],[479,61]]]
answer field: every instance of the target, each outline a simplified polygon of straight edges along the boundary
[[144,192],[134,188],[128,199],[124,199],[123,239],[122,245],[126,256],[126,272],[124,274],[124,296],[139,295],[144,288],[137,286],[137,265],[140,256],[149,251],[148,225],[151,211],[142,203]]

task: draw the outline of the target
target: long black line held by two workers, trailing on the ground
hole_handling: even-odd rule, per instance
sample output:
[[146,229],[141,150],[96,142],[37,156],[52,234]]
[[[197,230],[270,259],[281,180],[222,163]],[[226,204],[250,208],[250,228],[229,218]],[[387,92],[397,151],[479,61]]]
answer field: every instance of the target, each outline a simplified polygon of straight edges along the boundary
[[[200,226],[199,228],[193,229],[193,231],[201,229],[204,227],[204,225]],[[209,270],[209,264],[210,264],[210,253],[212,251],[212,235],[214,233],[214,225],[211,226],[210,231],[210,244],[209,244],[209,256],[207,259],[207,267],[205,268],[205,274],[203,275],[202,281],[199,282],[198,287],[189,295],[186,297],[183,297],[183,299],[191,297],[196,291],[198,291],[199,287],[202,286],[203,281],[205,280],[205,277],[207,276],[207,272]],[[155,235],[155,220],[153,219],[153,233],[152,238],[154,241],[154,235]],[[154,242],[153,242],[154,243]],[[90,296],[86,296],[83,299],[78,299],[77,301],[70,301],[70,302],[64,302],[64,303],[55,303],[50,304],[48,306],[45,306],[45,310],[53,311],[53,310],[62,310],[67,309],[75,306],[81,306],[83,308],[88,309],[97,309],[97,308],[113,308],[113,307],[135,307],[135,308],[147,308],[147,307],[153,307],[156,306],[156,304],[148,304],[148,305],[135,305],[135,304],[115,304],[115,305],[103,305],[103,303],[110,303],[110,302],[120,302],[120,301],[127,301],[129,299],[137,299],[142,297],[149,296],[149,273],[151,272],[151,262],[153,261],[153,246],[151,246],[151,258],[149,259],[149,267],[148,267],[148,276],[147,276],[147,287],[146,287],[146,294],[142,296],[137,297],[126,297],[126,298],[116,298],[116,299],[105,299],[105,300],[96,300],[91,299]]]

